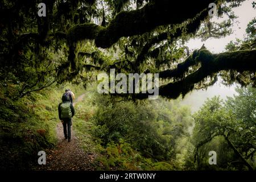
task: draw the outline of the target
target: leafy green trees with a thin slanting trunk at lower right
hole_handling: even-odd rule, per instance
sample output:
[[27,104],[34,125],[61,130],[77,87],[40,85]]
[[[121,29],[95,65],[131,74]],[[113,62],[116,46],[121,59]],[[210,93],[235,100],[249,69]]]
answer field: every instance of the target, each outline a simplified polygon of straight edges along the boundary
[[[226,102],[213,97],[194,115],[192,141],[197,169],[255,168],[256,92],[251,86],[237,88],[237,92]],[[217,152],[217,166],[208,164],[211,150]]]

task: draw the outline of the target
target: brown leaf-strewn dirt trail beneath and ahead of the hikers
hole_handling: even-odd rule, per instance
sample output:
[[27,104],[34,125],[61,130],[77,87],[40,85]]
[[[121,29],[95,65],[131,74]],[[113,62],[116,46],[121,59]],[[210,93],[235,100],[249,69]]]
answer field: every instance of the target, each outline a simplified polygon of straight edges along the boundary
[[[85,94],[82,94],[77,97],[73,105],[75,106],[77,102],[81,102],[84,96]],[[76,137],[72,126],[71,142],[68,142],[68,140],[64,138],[62,123],[57,123],[57,147],[52,150],[46,150],[46,165],[40,167],[39,170],[93,170],[94,154],[86,154],[86,152],[82,150],[79,139]]]

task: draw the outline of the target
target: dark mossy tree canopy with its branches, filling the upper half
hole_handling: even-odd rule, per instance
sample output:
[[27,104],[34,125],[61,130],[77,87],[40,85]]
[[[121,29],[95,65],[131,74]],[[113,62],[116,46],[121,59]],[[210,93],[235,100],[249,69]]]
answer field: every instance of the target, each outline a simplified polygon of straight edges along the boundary
[[[20,98],[52,85],[96,80],[98,72],[115,68],[124,73],[159,73],[159,95],[183,96],[206,88],[222,77],[227,84],[255,86],[255,31],[233,52],[189,52],[191,38],[220,38],[231,33],[232,7],[243,0],[214,1],[221,23],[211,22],[212,1],[76,0],[46,1],[46,16],[38,16],[40,1],[0,2],[1,82]],[[251,7],[253,8],[253,6]],[[184,53],[184,50],[187,53]],[[114,56],[113,56],[114,55]],[[10,89],[7,89],[10,90]],[[147,98],[146,94],[133,94]]]

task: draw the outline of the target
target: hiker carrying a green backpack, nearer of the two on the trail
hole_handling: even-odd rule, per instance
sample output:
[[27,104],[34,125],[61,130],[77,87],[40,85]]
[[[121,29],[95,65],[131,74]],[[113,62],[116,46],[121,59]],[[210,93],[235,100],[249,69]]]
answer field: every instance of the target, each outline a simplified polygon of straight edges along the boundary
[[[71,125],[72,125],[72,117],[75,115],[75,109],[73,104],[70,102],[67,94],[63,94],[61,98],[62,102],[59,104],[59,118],[63,124],[63,131],[65,139],[68,139],[68,142],[71,141]],[[68,127],[68,134],[67,134]]]

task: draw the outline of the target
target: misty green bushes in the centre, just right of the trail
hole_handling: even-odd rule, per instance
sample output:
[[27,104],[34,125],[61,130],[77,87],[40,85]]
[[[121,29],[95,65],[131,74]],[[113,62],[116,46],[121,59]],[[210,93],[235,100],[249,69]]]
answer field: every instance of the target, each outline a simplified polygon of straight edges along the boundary
[[104,147],[123,139],[144,158],[175,159],[178,141],[189,136],[191,126],[190,111],[178,103],[159,99],[135,104],[97,95],[93,134]]

